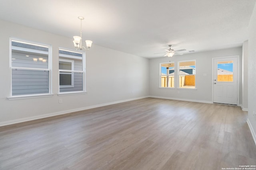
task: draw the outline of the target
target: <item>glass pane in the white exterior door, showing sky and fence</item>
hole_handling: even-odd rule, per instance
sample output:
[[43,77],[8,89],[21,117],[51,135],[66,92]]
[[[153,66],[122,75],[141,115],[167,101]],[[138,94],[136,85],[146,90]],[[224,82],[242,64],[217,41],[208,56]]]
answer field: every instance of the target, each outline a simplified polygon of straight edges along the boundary
[[233,82],[233,61],[218,62],[218,82]]

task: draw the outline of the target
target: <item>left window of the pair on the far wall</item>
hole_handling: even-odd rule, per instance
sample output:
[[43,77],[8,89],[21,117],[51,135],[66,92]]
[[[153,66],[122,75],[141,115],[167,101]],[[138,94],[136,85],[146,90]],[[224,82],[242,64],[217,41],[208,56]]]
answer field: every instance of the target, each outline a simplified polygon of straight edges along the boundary
[[162,63],[160,68],[160,87],[174,88],[174,63]]

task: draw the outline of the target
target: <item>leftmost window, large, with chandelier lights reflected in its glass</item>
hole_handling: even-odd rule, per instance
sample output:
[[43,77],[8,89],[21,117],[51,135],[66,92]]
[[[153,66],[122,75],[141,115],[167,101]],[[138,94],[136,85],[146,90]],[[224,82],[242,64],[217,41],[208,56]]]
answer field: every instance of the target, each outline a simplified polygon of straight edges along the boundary
[[10,96],[50,94],[50,45],[12,39]]

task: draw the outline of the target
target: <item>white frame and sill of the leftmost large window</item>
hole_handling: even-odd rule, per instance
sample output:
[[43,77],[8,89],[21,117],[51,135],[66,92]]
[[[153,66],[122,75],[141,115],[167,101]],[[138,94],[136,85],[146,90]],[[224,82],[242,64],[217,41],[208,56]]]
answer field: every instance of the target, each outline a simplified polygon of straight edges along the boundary
[[[36,49],[28,49],[24,47],[12,47],[12,41],[25,43],[25,44],[32,44],[38,45],[43,47],[48,47],[47,51],[41,51]],[[48,55],[48,68],[33,68],[33,67],[17,67],[12,66],[12,50],[24,51],[24,52],[32,52],[32,53],[39,53],[39,54],[47,54]],[[26,98],[41,98],[41,97],[50,97],[53,96],[52,94],[52,46],[49,44],[38,43],[33,41],[28,41],[24,39],[19,39],[15,37],[10,37],[9,39],[9,66],[10,66],[10,91],[9,91],[9,100],[16,100],[16,99],[26,99]],[[12,96],[12,69],[20,69],[20,70],[41,70],[41,71],[48,71],[48,93],[42,94],[26,94],[26,95],[15,95]]]

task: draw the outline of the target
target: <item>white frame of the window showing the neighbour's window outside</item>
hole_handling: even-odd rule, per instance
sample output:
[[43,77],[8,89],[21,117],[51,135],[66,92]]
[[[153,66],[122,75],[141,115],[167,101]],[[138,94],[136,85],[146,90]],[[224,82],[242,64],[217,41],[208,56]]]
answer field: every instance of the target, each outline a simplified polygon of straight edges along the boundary
[[[76,52],[74,51],[73,49],[67,49],[67,48],[62,48],[62,47],[59,47],[58,50],[63,50],[63,51],[70,51],[72,53],[82,53],[82,70],[59,70],[59,75],[58,75],[58,78],[59,78],[59,93],[58,93],[58,96],[63,96],[63,95],[73,95],[73,94],[84,94],[86,93],[86,89],[85,89],[85,83],[86,83],[86,76],[85,76],[85,72],[86,72],[86,68],[85,68],[85,52],[84,51],[79,51],[79,52]],[[67,59],[81,59],[81,57],[76,57],[76,56],[72,56],[72,55],[66,55],[66,54],[60,54],[59,53],[59,57],[63,57],[63,58],[67,58]],[[63,58],[59,58],[59,61],[60,59],[62,60]],[[66,59],[64,59],[66,60]],[[71,92],[60,92],[60,71],[64,71],[64,72],[80,72],[80,73],[83,73],[83,87],[82,87],[82,91],[71,91]],[[74,77],[74,76],[73,76]]]

